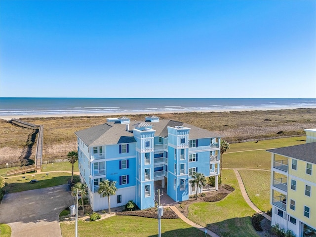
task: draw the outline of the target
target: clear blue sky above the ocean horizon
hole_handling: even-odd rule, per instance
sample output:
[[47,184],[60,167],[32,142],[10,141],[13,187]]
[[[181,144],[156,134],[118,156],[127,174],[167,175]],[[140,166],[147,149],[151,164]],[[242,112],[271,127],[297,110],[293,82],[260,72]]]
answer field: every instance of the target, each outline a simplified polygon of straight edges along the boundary
[[316,98],[316,1],[1,0],[0,97]]

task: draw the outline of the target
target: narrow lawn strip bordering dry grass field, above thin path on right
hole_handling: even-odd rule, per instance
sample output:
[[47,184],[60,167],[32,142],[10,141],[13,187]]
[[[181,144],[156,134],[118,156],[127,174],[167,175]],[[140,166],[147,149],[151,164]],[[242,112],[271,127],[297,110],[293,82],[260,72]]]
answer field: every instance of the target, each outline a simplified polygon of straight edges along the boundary
[[294,145],[300,145],[306,143],[306,137],[289,137],[289,138],[278,138],[270,139],[257,142],[241,142],[230,144],[230,149],[227,153],[237,151],[247,151],[254,149],[272,149],[278,147],[288,147]]

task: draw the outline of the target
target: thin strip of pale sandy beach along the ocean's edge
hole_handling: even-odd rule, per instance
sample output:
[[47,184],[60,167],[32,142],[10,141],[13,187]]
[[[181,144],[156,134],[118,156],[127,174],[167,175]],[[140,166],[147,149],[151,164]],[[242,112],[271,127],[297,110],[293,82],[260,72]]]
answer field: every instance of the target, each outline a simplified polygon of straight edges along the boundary
[[[209,112],[231,112],[231,111],[271,111],[271,110],[291,110],[291,109],[316,109],[315,106],[300,106],[300,107],[258,107],[258,108],[246,108],[246,109],[212,109],[212,110],[196,110],[196,111],[160,111],[150,113],[151,115],[159,114],[177,114],[177,113],[209,113]],[[12,118],[53,118],[53,117],[117,117],[125,115],[147,115],[148,112],[130,112],[128,114],[115,114],[115,113],[81,113],[81,114],[41,114],[41,115],[16,115],[16,116],[0,116],[0,119],[11,120]]]

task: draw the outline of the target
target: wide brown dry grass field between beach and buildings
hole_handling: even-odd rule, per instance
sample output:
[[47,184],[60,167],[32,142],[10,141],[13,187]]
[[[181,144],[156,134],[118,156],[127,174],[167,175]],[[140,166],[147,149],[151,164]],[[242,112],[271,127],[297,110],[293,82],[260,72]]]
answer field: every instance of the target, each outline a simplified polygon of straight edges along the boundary
[[[117,117],[119,117],[118,115]],[[148,115],[125,115],[133,120],[144,120]],[[44,125],[43,159],[65,159],[67,153],[76,150],[75,131],[106,122],[107,117],[54,117],[22,118],[34,124]],[[305,135],[304,128],[316,127],[316,109],[235,111],[208,113],[158,114],[160,119],[173,119],[217,132],[229,142],[245,139],[261,139]],[[22,128],[0,119],[0,168],[8,162],[19,165],[23,148],[28,145],[32,129]]]

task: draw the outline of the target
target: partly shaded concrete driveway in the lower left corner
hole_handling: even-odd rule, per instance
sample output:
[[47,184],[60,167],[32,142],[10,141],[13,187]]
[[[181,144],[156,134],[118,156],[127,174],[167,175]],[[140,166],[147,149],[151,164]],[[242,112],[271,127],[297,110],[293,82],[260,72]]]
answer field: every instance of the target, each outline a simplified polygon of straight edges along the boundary
[[74,204],[68,185],[4,195],[0,223],[12,229],[11,237],[61,237],[59,213]]

